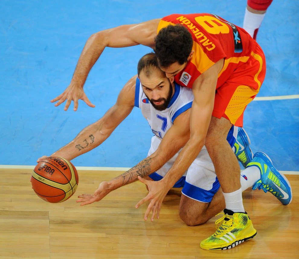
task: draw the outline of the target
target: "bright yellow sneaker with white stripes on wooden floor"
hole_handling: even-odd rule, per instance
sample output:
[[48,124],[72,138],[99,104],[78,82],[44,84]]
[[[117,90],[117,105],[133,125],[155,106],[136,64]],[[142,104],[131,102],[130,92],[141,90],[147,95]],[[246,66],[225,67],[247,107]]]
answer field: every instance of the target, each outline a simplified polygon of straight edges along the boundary
[[201,241],[202,249],[230,249],[256,236],[256,229],[253,228],[246,212],[233,213],[231,210],[224,209],[224,213],[219,214],[223,216],[215,224],[220,223],[220,226],[213,235]]

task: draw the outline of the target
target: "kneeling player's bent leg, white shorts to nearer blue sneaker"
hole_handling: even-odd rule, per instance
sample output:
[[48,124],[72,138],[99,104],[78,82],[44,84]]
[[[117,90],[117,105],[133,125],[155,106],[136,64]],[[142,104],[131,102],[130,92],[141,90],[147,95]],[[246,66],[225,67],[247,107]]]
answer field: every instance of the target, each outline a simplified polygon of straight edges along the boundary
[[[225,208],[224,196],[221,187],[217,190],[217,184],[211,185],[215,179],[212,162],[201,152],[201,163],[191,165],[186,181],[192,187],[183,188],[179,206],[181,219],[189,226],[201,225],[213,218]],[[198,161],[195,161],[198,162]],[[204,166],[204,167],[202,167]],[[207,169],[207,168],[209,169]],[[209,179],[211,182],[209,184]],[[262,152],[256,152],[252,162],[240,174],[242,192],[248,188],[257,188],[272,193],[282,204],[287,205],[292,200],[292,191],[288,179],[272,164],[268,156]],[[216,188],[211,188],[216,186]],[[206,190],[206,189],[212,190]],[[211,195],[214,196],[211,199]],[[209,202],[210,201],[210,202]]]

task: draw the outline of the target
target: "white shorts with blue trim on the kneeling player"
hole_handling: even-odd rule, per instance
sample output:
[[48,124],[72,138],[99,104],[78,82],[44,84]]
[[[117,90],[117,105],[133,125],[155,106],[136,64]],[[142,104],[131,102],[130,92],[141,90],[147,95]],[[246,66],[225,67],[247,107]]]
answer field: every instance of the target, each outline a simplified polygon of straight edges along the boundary
[[[238,127],[233,126],[228,135],[227,140],[232,147],[236,141],[237,131]],[[160,142],[161,141],[156,136],[152,137],[148,156],[157,150]],[[163,165],[162,168],[157,170],[155,173],[150,174],[149,177],[154,181],[161,180],[172,167],[179,152],[175,154],[165,165]],[[188,170],[173,187],[183,187],[182,193],[193,200],[197,200],[199,202],[211,202],[214,194],[219,189],[220,184],[215,173],[213,162],[205,146],[201,149],[201,152],[192,162]]]

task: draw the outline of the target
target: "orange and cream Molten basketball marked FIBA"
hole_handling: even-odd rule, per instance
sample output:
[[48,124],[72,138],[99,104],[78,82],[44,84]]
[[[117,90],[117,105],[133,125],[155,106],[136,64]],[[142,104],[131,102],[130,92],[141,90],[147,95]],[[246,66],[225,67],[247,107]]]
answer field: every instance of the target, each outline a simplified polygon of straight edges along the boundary
[[78,187],[79,177],[74,165],[59,156],[49,156],[34,168],[31,184],[34,192],[50,203],[69,199]]

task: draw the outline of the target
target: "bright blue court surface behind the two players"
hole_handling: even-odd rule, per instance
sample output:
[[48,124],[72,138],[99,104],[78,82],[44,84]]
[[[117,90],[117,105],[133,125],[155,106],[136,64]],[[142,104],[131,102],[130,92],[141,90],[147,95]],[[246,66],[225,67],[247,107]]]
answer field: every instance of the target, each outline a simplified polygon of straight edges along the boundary
[[[71,141],[111,107],[137,73],[144,46],[105,49],[85,83],[95,108],[79,102],[64,111],[50,100],[68,86],[88,37],[106,28],[172,13],[214,13],[243,25],[246,1],[21,1],[0,2],[1,165],[36,165],[42,155]],[[299,3],[274,0],[257,41],[267,74],[246,109],[244,128],[252,150],[266,152],[276,168],[299,171]],[[98,148],[75,166],[132,167],[145,158],[152,132],[138,108]]]

